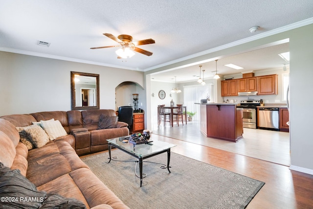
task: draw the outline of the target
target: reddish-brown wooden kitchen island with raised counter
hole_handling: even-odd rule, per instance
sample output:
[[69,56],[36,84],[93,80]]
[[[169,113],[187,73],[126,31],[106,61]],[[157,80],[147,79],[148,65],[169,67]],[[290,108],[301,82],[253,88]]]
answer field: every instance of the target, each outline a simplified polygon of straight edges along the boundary
[[206,137],[233,142],[243,138],[243,114],[236,103],[203,103],[200,112],[200,131]]

